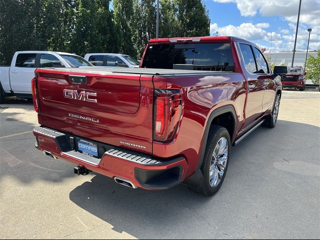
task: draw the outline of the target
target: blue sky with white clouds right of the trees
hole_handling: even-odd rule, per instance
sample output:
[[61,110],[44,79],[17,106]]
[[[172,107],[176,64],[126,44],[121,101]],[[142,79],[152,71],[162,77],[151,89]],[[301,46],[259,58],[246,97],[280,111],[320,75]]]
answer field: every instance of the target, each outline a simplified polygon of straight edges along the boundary
[[[299,0],[204,0],[211,34],[233,35],[272,51],[291,51]],[[306,50],[307,28],[312,28],[309,50],[320,48],[320,0],[302,0],[297,50]]]

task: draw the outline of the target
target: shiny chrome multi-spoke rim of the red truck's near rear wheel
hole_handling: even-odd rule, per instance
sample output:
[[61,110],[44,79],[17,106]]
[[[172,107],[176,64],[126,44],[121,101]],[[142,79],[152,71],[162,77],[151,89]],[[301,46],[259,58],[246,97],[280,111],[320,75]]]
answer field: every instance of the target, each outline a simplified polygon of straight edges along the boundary
[[228,160],[228,141],[221,137],[213,149],[210,169],[209,182],[211,187],[216,187],[222,179]]

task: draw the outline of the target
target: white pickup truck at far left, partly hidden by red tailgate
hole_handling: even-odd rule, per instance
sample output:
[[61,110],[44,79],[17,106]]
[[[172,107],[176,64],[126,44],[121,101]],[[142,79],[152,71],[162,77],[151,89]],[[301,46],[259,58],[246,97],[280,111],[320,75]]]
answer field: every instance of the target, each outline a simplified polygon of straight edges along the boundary
[[83,57],[56,51],[17,51],[10,66],[0,66],[0,104],[4,96],[32,97],[31,79],[37,67],[93,66]]

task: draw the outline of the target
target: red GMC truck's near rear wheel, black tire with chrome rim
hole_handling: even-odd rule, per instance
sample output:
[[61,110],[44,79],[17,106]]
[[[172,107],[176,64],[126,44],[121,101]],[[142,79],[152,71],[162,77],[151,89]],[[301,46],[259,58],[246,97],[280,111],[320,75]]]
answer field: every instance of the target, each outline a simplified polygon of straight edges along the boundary
[[199,187],[189,186],[192,191],[211,196],[219,190],[228,167],[230,147],[230,136],[227,129],[212,125],[200,168],[203,175],[201,185]]

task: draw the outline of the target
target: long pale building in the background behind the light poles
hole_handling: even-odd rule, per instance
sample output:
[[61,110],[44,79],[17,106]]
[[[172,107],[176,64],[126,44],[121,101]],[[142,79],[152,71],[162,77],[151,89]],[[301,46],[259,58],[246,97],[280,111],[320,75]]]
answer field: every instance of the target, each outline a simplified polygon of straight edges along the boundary
[[[286,66],[291,66],[292,63],[292,51],[284,52],[263,52],[264,57],[267,59],[268,63],[274,63],[274,65],[284,64]],[[294,54],[294,66],[304,67],[306,51],[296,51]],[[308,55],[316,56],[317,51],[308,51]]]

